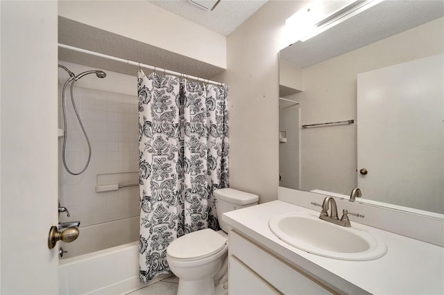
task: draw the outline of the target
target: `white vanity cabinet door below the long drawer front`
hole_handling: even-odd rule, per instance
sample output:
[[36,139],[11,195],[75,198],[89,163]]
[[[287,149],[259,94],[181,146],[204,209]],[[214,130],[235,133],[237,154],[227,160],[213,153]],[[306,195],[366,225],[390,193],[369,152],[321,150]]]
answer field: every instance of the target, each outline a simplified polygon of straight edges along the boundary
[[230,256],[230,295],[280,294],[265,280],[246,267],[234,256]]

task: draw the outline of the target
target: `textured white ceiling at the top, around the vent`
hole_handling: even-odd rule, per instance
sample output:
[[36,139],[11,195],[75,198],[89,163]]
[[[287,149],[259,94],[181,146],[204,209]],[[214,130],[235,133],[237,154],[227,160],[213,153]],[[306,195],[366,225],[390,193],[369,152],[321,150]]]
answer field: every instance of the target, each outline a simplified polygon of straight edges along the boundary
[[228,36],[266,1],[268,0],[221,0],[212,11],[198,8],[188,0],[149,0],[148,2],[216,33]]

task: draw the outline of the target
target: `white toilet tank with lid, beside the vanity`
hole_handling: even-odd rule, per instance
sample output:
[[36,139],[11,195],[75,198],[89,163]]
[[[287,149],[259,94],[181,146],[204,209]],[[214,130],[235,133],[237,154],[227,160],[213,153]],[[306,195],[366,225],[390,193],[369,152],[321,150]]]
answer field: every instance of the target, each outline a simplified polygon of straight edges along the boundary
[[216,214],[219,220],[219,226],[225,233],[228,233],[230,227],[222,221],[223,213],[257,205],[257,201],[259,201],[259,196],[257,195],[241,192],[240,190],[234,190],[232,188],[214,190],[213,195],[217,199]]

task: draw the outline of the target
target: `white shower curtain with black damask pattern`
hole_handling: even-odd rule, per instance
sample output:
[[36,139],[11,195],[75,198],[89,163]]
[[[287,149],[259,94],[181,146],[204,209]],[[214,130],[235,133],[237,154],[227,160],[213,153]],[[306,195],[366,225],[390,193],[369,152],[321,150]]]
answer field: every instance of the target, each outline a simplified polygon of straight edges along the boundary
[[170,272],[167,247],[218,229],[212,192],[228,187],[227,87],[138,73],[140,280]]

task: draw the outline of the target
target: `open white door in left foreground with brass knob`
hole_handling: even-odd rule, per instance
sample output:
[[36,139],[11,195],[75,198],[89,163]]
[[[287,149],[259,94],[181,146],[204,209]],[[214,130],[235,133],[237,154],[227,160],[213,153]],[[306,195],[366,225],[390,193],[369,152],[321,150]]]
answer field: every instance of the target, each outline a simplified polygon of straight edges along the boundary
[[57,294],[57,3],[0,6],[0,292]]

